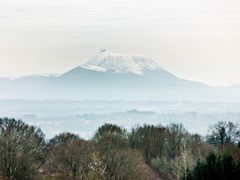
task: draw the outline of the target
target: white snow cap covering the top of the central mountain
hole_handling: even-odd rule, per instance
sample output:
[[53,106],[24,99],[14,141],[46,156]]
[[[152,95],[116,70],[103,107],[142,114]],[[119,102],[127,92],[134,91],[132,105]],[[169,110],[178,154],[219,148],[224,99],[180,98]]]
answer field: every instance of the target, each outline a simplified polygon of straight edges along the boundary
[[145,70],[161,70],[161,66],[151,58],[141,55],[119,54],[103,50],[87,63],[84,69],[100,72],[142,74]]

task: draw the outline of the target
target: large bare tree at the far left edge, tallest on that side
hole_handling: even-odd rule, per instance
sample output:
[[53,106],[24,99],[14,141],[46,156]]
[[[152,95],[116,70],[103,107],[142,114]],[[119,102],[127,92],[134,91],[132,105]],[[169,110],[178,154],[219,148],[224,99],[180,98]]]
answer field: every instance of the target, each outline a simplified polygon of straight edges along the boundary
[[0,119],[0,174],[8,179],[34,179],[44,160],[40,129],[21,120]]

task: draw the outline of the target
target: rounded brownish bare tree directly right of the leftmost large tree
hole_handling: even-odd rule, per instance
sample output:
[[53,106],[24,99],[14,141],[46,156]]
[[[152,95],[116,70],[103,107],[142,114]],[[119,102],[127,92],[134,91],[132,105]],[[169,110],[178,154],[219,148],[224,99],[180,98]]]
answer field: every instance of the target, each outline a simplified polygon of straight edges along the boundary
[[[54,143],[53,143],[54,142]],[[50,140],[45,170],[50,177],[63,179],[90,179],[91,155],[94,144],[70,133],[60,134]]]

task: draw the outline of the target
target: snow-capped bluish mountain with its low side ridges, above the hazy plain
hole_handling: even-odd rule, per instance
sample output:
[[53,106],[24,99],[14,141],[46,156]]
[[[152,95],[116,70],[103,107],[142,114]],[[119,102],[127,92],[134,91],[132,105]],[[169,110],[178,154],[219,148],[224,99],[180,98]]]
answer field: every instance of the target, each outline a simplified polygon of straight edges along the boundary
[[239,90],[180,79],[149,57],[105,50],[58,76],[0,79],[1,99],[240,101]]

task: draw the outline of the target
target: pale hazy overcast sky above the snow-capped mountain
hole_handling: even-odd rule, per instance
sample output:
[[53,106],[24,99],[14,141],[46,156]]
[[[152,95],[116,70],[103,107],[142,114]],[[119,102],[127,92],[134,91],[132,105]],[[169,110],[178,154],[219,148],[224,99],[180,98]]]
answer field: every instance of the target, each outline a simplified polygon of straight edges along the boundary
[[239,0],[0,0],[0,76],[63,73],[102,48],[240,83]]

